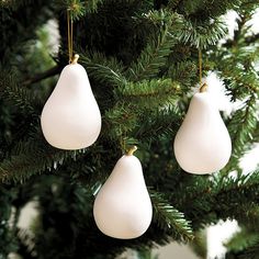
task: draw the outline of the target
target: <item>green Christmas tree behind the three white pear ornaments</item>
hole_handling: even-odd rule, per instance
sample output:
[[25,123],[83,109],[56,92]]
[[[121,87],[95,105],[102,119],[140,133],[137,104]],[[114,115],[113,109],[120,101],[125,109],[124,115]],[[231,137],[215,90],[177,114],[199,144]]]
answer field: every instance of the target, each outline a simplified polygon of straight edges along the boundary
[[[259,171],[244,176],[239,164],[259,142],[259,34],[250,32],[258,8],[258,0],[1,0],[0,258],[109,259],[126,248],[149,258],[153,246],[170,241],[205,258],[203,229],[227,218],[241,228],[226,244],[227,258],[259,258]],[[237,27],[223,41],[229,10]],[[71,52],[67,13],[74,54],[102,114],[98,140],[78,150],[50,146],[41,127]],[[56,54],[48,21],[58,24]],[[204,176],[183,171],[172,145],[199,83],[199,49],[203,76],[216,72],[232,103],[241,102],[222,113],[233,145],[228,164]],[[94,223],[94,196],[134,145],[153,221],[138,238],[112,238]],[[24,230],[18,222],[29,202],[38,216]]]

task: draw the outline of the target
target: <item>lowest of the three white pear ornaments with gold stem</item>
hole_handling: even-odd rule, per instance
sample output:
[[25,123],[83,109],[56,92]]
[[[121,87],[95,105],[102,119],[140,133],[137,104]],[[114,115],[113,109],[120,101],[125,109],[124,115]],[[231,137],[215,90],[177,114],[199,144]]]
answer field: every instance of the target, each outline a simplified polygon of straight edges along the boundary
[[108,236],[121,239],[142,236],[153,217],[142,164],[133,155],[134,150],[116,162],[93,205],[98,228]]

